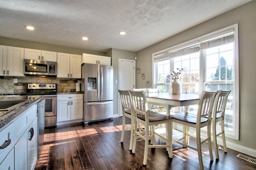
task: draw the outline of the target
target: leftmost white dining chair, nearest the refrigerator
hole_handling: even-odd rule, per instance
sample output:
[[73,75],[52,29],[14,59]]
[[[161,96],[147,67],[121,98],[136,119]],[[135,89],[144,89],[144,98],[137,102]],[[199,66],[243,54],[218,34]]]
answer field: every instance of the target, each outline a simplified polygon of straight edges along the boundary
[[[122,103],[122,113],[123,113],[123,122],[122,122],[122,134],[120,142],[124,141],[124,131],[129,129],[131,131],[130,135],[130,147],[129,150],[132,150],[133,136],[134,136],[134,118],[132,117],[132,100],[129,90],[118,90]],[[131,124],[126,125],[126,117],[131,119]]]

